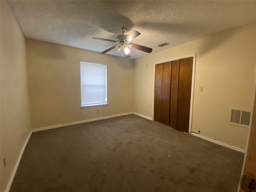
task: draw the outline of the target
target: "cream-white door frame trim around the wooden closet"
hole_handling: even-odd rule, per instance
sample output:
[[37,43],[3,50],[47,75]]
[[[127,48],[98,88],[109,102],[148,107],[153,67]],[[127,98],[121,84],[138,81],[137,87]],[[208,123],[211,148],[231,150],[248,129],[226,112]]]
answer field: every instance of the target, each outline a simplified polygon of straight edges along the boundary
[[190,95],[190,114],[189,114],[189,127],[188,127],[188,131],[191,132],[192,130],[192,115],[193,115],[193,99],[194,99],[194,82],[195,82],[195,67],[196,67],[196,53],[194,54],[190,54],[190,55],[186,55],[186,56],[180,56],[180,57],[176,57],[176,58],[170,58],[167,60],[163,60],[163,61],[158,61],[158,62],[154,62],[154,68],[153,68],[153,94],[152,94],[152,120],[154,120],[154,100],[155,100],[155,73],[156,73],[156,65],[157,64],[162,64],[162,63],[166,63],[166,62],[172,62],[172,61],[176,61],[176,60],[180,60],[180,59],[186,59],[186,58],[190,58],[193,57],[193,68],[192,68],[192,84],[191,84],[191,95]]

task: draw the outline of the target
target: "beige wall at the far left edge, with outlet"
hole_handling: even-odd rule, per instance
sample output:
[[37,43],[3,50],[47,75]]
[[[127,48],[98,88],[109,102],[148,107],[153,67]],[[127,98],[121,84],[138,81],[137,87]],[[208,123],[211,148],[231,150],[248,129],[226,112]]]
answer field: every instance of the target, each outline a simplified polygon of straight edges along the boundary
[[[6,1],[1,5],[1,192],[30,133],[25,38]],[[6,167],[3,159],[6,158]]]

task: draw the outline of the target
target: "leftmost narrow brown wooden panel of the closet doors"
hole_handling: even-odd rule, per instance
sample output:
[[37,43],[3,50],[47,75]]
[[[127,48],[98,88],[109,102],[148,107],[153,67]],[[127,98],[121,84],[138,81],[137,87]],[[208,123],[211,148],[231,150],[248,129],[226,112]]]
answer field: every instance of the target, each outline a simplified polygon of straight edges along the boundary
[[155,101],[154,101],[154,120],[157,122],[161,122],[162,76],[163,76],[163,64],[158,64],[156,65],[156,72],[155,72]]

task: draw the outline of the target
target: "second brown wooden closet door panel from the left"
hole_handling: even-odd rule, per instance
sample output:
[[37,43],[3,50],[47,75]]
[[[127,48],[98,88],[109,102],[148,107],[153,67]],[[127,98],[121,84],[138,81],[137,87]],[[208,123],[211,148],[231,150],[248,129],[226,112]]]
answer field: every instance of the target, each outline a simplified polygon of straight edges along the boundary
[[169,125],[172,62],[163,64],[161,123]]

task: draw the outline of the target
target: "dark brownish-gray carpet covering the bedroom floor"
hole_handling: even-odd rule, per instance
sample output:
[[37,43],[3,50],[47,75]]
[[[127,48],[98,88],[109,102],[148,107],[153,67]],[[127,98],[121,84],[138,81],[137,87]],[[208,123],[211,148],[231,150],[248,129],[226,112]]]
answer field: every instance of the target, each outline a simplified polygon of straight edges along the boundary
[[34,132],[10,192],[236,192],[243,158],[127,115]]

